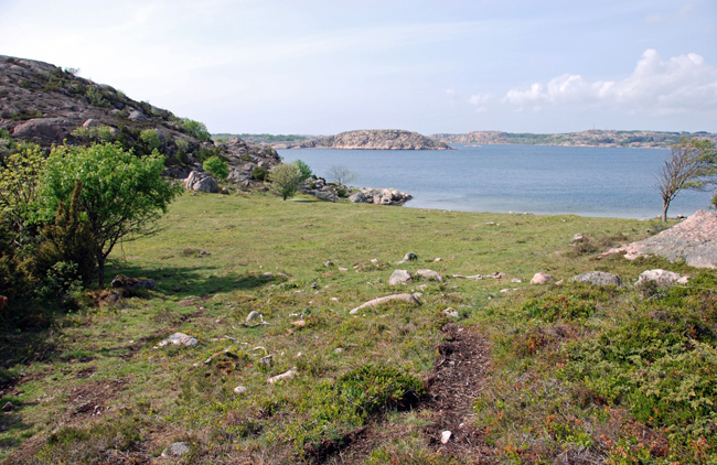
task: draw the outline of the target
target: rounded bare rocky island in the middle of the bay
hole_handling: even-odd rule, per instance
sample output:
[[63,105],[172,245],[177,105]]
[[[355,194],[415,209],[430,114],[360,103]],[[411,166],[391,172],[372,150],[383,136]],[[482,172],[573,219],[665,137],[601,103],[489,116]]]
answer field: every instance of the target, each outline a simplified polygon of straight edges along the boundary
[[354,150],[452,150],[453,148],[418,132],[397,129],[370,129],[342,132],[319,139],[286,143],[277,149],[354,149]]

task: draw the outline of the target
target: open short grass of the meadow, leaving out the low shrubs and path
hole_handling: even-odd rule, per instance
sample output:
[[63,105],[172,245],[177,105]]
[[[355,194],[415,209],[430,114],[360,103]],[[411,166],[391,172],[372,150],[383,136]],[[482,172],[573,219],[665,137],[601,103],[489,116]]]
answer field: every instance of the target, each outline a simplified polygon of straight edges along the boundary
[[[574,401],[545,401],[546,396],[553,399],[546,393],[553,392],[550,386],[558,392],[572,389],[556,387],[567,382],[558,381],[565,377],[555,371],[565,361],[565,356],[555,355],[561,342],[587,337],[593,328],[584,320],[560,321],[566,326],[560,333],[555,321],[526,316],[520,310],[524,300],[545,292],[527,282],[537,271],[568,279],[588,270],[611,270],[634,281],[648,264],[681,269],[656,261],[593,261],[589,253],[571,253],[576,233],[602,247],[646,235],[645,221],[627,219],[418,210],[309,198],[281,202],[260,194],[186,194],[172,205],[161,226],[160,234],[116,250],[110,271],[156,279],[154,291],[69,314],[40,338],[3,336],[4,359],[12,359],[6,363],[3,378],[14,377],[17,383],[8,385],[2,403],[21,405],[2,420],[0,445],[6,457],[28,462],[34,454],[44,463],[92,462],[103,456],[121,463],[122,457],[157,456],[180,440],[194,444],[188,463],[229,463],[240,457],[287,463],[309,457],[304,453],[312,451],[311,444],[340,440],[365,421],[321,407],[317,399],[331,393],[331,382],[321,381],[333,382],[365,364],[386,364],[425,378],[441,339],[440,328],[448,322],[442,314],[447,306],[459,309],[461,324],[480,324],[494,342],[494,376],[477,407],[485,413],[479,422],[488,429],[499,459],[528,454],[548,459],[579,450],[576,444],[607,456],[628,433],[611,430],[617,435],[609,444],[597,439],[597,426],[579,429],[587,434],[584,437],[577,432],[556,434],[555,428],[545,425],[545,418],[555,413],[548,407],[556,402],[558,411],[571,409],[575,414],[570,414],[584,423],[604,425],[613,418],[587,420],[596,411],[590,402],[576,407]],[[211,255],[197,258],[202,250]],[[419,256],[417,262],[392,263],[409,251]],[[434,262],[437,257],[443,260]],[[371,262],[374,258],[377,263]],[[333,266],[327,267],[328,260]],[[426,284],[420,307],[388,305],[349,315],[370,299],[399,292],[387,284],[396,268],[430,268],[447,277],[502,271],[507,277],[413,283],[404,290]],[[263,275],[267,272],[272,275]],[[510,282],[513,278],[523,282]],[[517,291],[501,293],[504,288]],[[564,292],[550,289],[556,295]],[[601,302],[599,324],[613,324],[610,309],[638,299],[634,291],[606,295],[586,296]],[[269,324],[244,327],[252,310]],[[292,325],[298,320],[307,325]],[[153,348],[176,331],[196,336],[201,345]],[[555,336],[558,333],[569,337]],[[222,356],[223,349],[236,358]],[[270,367],[259,364],[265,353],[272,356]],[[204,365],[214,354],[220,354],[216,360]],[[266,383],[267,376],[295,366],[298,378],[272,387]],[[533,390],[532,400],[520,400],[521,392],[497,399],[499,392],[517,389],[516,377],[521,386],[532,386],[526,380],[533,379],[539,392]],[[245,396],[233,393],[238,385],[248,388]],[[317,411],[317,404],[325,411]],[[521,410],[529,414],[522,415],[523,433],[516,434],[505,415]],[[427,420],[420,417],[420,412],[392,413],[388,424],[400,425],[402,439],[374,444],[376,451],[367,459],[381,463],[382,457],[402,457],[406,450],[431,456],[420,434]],[[574,430],[578,431],[566,431]]]

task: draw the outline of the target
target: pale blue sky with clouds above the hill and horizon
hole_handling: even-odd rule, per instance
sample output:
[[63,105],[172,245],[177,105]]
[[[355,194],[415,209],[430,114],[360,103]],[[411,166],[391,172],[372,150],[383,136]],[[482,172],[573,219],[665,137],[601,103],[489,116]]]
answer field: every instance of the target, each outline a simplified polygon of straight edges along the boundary
[[214,133],[717,132],[715,0],[0,0],[0,54]]

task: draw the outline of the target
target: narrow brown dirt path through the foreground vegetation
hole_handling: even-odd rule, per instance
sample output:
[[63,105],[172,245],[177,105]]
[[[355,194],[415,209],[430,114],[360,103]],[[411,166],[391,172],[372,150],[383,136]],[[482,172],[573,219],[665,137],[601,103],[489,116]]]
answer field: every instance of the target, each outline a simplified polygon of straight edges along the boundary
[[[490,365],[490,345],[475,328],[451,324],[443,331],[446,340],[438,346],[439,358],[427,381],[429,400],[425,408],[434,412],[434,423],[426,434],[443,455],[492,463],[492,448],[473,425],[473,401]],[[446,444],[441,443],[443,431],[451,432]]]

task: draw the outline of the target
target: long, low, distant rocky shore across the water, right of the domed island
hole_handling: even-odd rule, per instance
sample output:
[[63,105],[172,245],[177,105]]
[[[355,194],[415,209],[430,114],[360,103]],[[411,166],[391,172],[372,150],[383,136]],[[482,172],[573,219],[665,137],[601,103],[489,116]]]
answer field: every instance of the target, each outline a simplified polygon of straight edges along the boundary
[[589,130],[559,134],[533,134],[501,131],[473,131],[464,134],[431,134],[446,143],[515,143],[524,145],[622,147],[668,149],[681,138],[708,139],[717,142],[717,134],[708,132],[602,131]]

